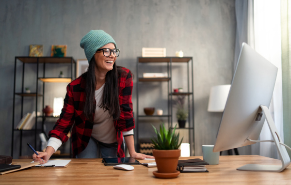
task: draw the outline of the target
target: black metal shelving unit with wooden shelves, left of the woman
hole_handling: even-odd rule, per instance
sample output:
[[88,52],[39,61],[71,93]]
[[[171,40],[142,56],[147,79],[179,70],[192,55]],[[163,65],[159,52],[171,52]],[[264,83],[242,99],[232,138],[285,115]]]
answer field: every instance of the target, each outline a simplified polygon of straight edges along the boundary
[[[22,63],[22,77],[21,77],[21,92],[16,92],[16,74],[17,74],[17,62]],[[40,73],[40,63],[43,64],[43,71],[42,71],[42,77],[39,76]],[[63,64],[69,64],[70,65],[70,77],[67,78],[58,78],[58,77],[46,77],[45,72],[46,72],[46,64],[49,63],[63,63]],[[32,93],[25,93],[24,92],[24,81],[25,81],[25,64],[35,64],[36,65],[36,79],[35,79],[35,86],[36,86],[36,91],[38,90],[38,81],[42,81],[43,83],[64,83],[64,82],[71,82],[75,77],[76,77],[76,65],[75,60],[72,57],[15,57],[15,68],[14,68],[14,93],[13,93],[13,118],[12,118],[12,142],[11,142],[11,156],[13,156],[14,153],[14,134],[15,132],[20,132],[20,137],[17,138],[19,139],[19,156],[22,155],[22,139],[23,139],[23,132],[32,132],[34,134],[34,148],[38,150],[37,147],[37,135],[38,133],[44,132],[44,123],[46,120],[45,116],[35,116],[35,126],[31,130],[18,130],[16,129],[16,123],[18,123],[23,115],[24,108],[23,108],[23,101],[24,98],[26,97],[32,97],[35,98],[35,112],[38,110],[38,99],[42,98],[42,108],[44,108],[44,96],[45,96],[45,84],[43,84],[42,92],[32,92]],[[19,80],[19,79],[18,79]],[[20,115],[21,117],[19,119],[15,119],[15,102],[16,102],[16,97],[21,98],[21,110],[20,110]],[[42,120],[41,128],[37,128],[37,122],[38,120]],[[71,155],[71,154],[70,154]]]

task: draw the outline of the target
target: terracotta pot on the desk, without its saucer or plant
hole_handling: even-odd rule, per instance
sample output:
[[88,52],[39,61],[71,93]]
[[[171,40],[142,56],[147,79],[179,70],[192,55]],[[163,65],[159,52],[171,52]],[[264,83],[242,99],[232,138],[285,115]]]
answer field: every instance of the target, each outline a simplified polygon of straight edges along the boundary
[[174,173],[177,171],[181,150],[153,150],[159,173]]

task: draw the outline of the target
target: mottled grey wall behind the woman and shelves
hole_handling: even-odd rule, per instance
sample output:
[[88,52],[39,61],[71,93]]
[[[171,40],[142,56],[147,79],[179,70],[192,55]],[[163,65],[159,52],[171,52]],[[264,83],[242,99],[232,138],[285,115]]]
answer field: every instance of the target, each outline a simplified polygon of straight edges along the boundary
[[[193,57],[195,155],[201,155],[201,145],[214,144],[222,115],[207,112],[210,88],[231,82],[236,31],[234,5],[234,0],[1,0],[0,154],[11,154],[15,56],[28,56],[31,44],[42,44],[44,56],[49,56],[51,45],[65,44],[67,56],[84,59],[79,46],[81,38],[90,30],[104,30],[113,36],[121,50],[117,64],[134,74],[142,47],[166,47],[167,56],[175,56],[182,49],[184,56]],[[62,69],[67,75],[68,70]],[[33,81],[34,67],[26,70],[31,70],[26,80]],[[59,71],[51,69],[49,73],[58,75]],[[181,77],[175,78],[173,84],[185,86],[183,69],[177,68],[175,73]],[[137,77],[134,83],[136,80]],[[65,88],[57,87],[60,89],[53,86],[46,89],[64,97]],[[16,90],[21,91],[18,82]],[[160,85],[153,85],[152,91],[157,92],[153,99],[166,98],[158,95]],[[143,91],[141,97],[148,95]],[[136,88],[132,100],[136,109]],[[33,109],[33,101],[28,100],[25,106]],[[51,100],[46,101],[49,104]],[[140,113],[143,107],[165,108],[162,103],[148,105],[148,98],[140,99],[140,104]],[[20,98],[16,99],[16,108],[19,107]],[[16,114],[16,120],[19,117]],[[31,155],[25,142],[23,153]],[[18,157],[19,141],[16,144],[14,158]]]

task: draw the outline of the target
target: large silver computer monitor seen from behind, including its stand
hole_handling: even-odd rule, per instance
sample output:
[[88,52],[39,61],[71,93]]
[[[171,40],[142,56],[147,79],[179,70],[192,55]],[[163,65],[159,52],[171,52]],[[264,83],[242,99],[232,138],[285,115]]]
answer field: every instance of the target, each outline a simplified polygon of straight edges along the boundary
[[[223,112],[213,152],[256,143],[267,120],[282,166],[249,164],[237,170],[282,171],[290,165],[286,148],[280,144],[278,131],[269,112],[275,87],[277,67],[246,43],[239,61]],[[253,140],[253,141],[252,141]]]

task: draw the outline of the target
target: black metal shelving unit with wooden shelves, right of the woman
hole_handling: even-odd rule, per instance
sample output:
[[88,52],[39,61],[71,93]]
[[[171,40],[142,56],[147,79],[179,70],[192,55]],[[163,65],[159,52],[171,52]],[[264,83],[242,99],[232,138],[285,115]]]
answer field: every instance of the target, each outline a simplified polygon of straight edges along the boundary
[[[172,64],[173,63],[187,63],[187,91],[183,93],[172,92]],[[143,78],[139,76],[140,64],[141,63],[166,63],[168,77],[163,78]],[[136,84],[137,88],[137,119],[136,119],[136,138],[139,140],[139,124],[141,124],[141,119],[159,119],[168,118],[168,125],[173,128],[173,97],[178,95],[184,95],[187,97],[189,117],[187,128],[177,128],[189,130],[189,141],[190,141],[190,155],[193,156],[194,151],[194,72],[193,72],[193,58],[192,57],[138,57],[137,58],[137,77],[138,81]],[[167,82],[167,101],[168,101],[168,112],[165,115],[139,115],[139,85],[141,83],[151,83],[151,82]],[[190,84],[191,82],[191,84]],[[136,145],[139,149],[139,145]]]

